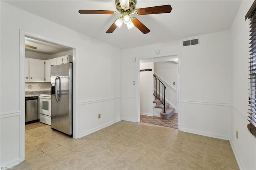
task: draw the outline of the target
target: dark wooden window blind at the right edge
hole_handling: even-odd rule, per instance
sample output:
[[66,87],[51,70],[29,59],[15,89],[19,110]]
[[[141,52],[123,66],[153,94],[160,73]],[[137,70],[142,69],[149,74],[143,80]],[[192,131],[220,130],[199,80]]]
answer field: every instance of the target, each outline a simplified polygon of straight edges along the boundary
[[256,1],[246,14],[250,18],[250,57],[249,57],[249,105],[247,128],[256,136]]

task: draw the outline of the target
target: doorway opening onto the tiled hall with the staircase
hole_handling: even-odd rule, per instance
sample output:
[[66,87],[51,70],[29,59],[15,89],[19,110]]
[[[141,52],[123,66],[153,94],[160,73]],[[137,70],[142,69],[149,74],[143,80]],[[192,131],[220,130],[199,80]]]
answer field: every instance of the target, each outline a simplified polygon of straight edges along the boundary
[[[150,123],[154,125],[160,125],[165,127],[172,127],[172,128],[178,128],[180,127],[180,113],[179,107],[180,107],[180,53],[170,54],[170,55],[162,55],[159,57],[154,58],[144,58],[140,59],[137,62],[137,71],[138,71],[138,77],[137,81],[137,108],[138,108],[138,122],[144,122],[144,123]],[[174,75],[172,75],[172,79],[168,79],[168,75],[163,75],[164,69],[159,70],[163,65],[166,65],[165,67],[174,66],[175,71]],[[146,67],[147,68],[146,68]],[[150,68],[151,66],[151,68]],[[154,70],[156,68],[156,70]],[[145,71],[145,72],[144,72]],[[148,71],[148,73],[146,73]],[[150,72],[150,73],[149,73]],[[157,73],[156,73],[157,72]],[[172,99],[167,98],[167,102],[169,103],[170,107],[174,108],[174,114],[170,116],[168,119],[161,119],[159,112],[161,112],[162,109],[155,109],[156,105],[153,104],[153,101],[157,100],[156,97],[153,95],[153,93],[156,91],[156,87],[154,87],[154,81],[155,77],[153,77],[153,74],[155,74],[160,81],[164,82],[167,90],[169,91],[167,93],[167,96],[171,96]],[[146,78],[146,76],[148,76]],[[174,78],[174,79],[173,79]],[[145,81],[145,79],[147,79]],[[167,83],[165,80],[168,80],[169,83]],[[148,81],[148,82],[147,82]],[[146,83],[145,83],[146,82]],[[149,83],[151,82],[151,83]],[[172,83],[172,86],[170,85],[170,82]],[[166,85],[167,83],[167,85]],[[145,87],[151,86],[151,87]],[[175,85],[175,86],[174,86]],[[168,87],[169,86],[169,87]],[[170,87],[171,86],[171,87]],[[150,89],[147,92],[145,92],[145,89]],[[145,93],[147,93],[149,96],[144,100]],[[162,95],[160,95],[162,97]],[[165,100],[166,101],[166,100]],[[179,114],[178,114],[179,113]]]

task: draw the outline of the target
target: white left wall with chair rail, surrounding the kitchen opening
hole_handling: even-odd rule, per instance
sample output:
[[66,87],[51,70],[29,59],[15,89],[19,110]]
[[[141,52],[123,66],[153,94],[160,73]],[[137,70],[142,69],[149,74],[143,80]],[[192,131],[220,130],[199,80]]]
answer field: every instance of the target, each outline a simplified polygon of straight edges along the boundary
[[[13,166],[24,160],[24,153],[20,154],[20,148],[25,148],[24,141],[20,145],[25,130],[20,128],[20,120],[24,119],[21,108],[25,103],[25,99],[20,99],[20,95],[25,93],[25,87],[20,89],[19,81],[22,74],[20,29],[76,49],[73,85],[76,89],[74,95],[77,96],[74,99],[74,108],[77,108],[74,114],[78,124],[74,126],[78,129],[78,137],[121,119],[120,49],[2,1],[0,6],[0,96],[4,99],[0,103],[0,166]],[[98,119],[98,113],[101,113],[101,119]]]

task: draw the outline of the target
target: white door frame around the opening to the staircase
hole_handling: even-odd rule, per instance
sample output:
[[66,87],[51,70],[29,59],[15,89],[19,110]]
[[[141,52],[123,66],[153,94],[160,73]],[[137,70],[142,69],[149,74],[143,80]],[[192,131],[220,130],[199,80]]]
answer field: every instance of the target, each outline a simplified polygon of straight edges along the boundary
[[147,57],[138,57],[136,59],[136,122],[140,122],[140,60],[148,60],[148,62],[154,62],[158,60],[160,57],[171,57],[171,56],[178,56],[178,68],[177,68],[177,108],[178,108],[178,130],[181,128],[181,107],[180,107],[180,99],[181,99],[181,54],[180,52],[176,53],[167,53],[162,55],[154,55],[154,56],[147,56]]

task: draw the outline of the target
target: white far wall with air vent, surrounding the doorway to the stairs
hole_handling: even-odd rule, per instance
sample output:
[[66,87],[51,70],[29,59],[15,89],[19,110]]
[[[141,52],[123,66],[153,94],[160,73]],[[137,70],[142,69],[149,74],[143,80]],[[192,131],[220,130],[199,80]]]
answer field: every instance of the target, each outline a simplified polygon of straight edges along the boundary
[[[136,122],[139,89],[132,85],[138,75],[138,66],[132,61],[181,53],[181,130],[229,139],[231,95],[231,41],[230,31],[197,36],[200,45],[182,47],[182,40],[165,42],[122,51],[122,118]],[[129,110],[128,110],[129,109]],[[132,114],[131,114],[131,111]],[[134,113],[137,112],[137,113]],[[134,113],[134,114],[133,114]],[[220,119],[221,118],[221,119]]]

